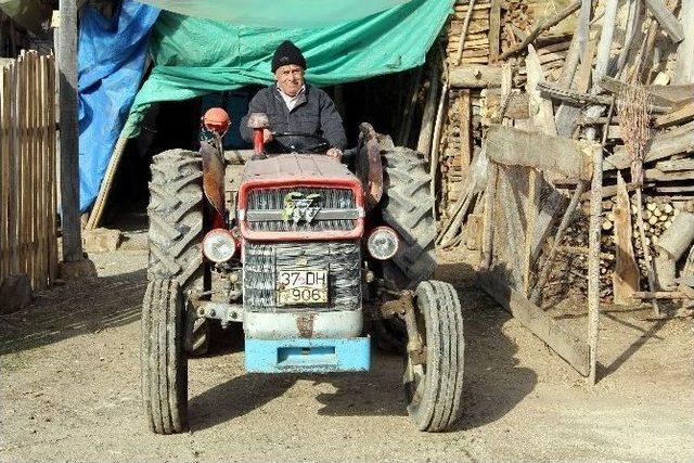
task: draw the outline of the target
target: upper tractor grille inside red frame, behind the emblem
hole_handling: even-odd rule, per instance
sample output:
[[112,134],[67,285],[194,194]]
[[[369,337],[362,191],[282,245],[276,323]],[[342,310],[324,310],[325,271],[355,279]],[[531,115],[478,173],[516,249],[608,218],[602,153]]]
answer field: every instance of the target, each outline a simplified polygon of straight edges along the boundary
[[[311,207],[318,207],[318,215],[310,221],[284,220],[285,198],[291,193],[300,197],[317,194]],[[351,231],[357,227],[358,209],[351,190],[333,188],[295,188],[252,190],[248,193],[248,228],[253,231],[270,232],[321,232]]]

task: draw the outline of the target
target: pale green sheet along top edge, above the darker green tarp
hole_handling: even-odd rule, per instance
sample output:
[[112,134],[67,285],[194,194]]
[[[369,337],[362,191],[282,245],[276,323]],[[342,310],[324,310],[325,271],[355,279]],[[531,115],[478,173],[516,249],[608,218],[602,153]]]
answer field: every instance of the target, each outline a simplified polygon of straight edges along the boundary
[[407,3],[409,0],[141,0],[187,16],[244,26],[326,27]]

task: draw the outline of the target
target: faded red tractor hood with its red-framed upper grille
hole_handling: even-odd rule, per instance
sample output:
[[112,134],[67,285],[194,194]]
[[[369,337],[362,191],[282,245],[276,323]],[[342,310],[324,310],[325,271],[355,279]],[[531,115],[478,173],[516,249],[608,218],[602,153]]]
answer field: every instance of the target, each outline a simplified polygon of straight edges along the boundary
[[248,160],[236,205],[246,240],[355,240],[363,234],[361,182],[347,166],[322,154]]

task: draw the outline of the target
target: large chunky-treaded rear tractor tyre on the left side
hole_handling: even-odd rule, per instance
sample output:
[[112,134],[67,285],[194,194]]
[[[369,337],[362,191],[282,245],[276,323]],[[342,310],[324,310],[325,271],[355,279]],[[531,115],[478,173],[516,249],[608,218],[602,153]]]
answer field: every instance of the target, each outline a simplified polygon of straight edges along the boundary
[[[175,279],[182,293],[203,290],[205,265],[202,159],[197,153],[169,150],[154,156],[150,182],[150,265],[147,278]],[[187,309],[185,350],[207,352],[209,323]]]

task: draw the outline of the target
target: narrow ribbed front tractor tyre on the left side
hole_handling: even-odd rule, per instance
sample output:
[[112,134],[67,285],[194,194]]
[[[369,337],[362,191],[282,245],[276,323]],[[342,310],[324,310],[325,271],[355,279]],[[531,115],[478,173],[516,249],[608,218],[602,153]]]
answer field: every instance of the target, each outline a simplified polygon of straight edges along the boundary
[[188,425],[188,358],[183,351],[183,297],[176,280],[150,282],[142,303],[142,401],[156,434]]

